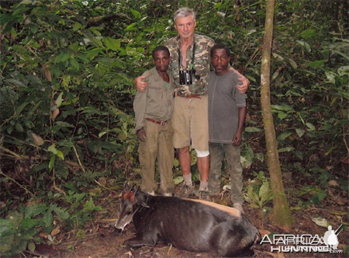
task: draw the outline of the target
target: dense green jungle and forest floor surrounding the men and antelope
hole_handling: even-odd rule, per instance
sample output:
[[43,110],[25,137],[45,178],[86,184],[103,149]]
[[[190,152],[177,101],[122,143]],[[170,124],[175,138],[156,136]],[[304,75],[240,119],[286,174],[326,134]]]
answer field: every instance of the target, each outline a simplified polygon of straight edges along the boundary
[[[110,225],[125,182],[140,182],[133,79],[152,66],[152,49],[176,35],[173,15],[184,6],[197,12],[196,31],[228,44],[232,64],[251,81],[244,209],[262,235],[283,232],[268,218],[259,99],[265,0],[1,0],[0,256],[213,257],[169,246],[127,249],[132,227],[119,233]],[[270,85],[290,233],[322,235],[342,224],[342,255],[349,249],[348,15],[346,0],[276,1]],[[222,204],[228,186],[225,174]],[[255,255],[276,254],[258,245]]]

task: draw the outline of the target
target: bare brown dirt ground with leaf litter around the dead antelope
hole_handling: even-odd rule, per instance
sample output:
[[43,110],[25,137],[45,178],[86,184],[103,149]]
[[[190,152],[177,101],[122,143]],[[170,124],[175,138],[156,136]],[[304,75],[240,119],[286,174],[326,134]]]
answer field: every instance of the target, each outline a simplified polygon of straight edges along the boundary
[[[65,232],[56,236],[57,244],[48,246],[37,246],[36,256],[57,257],[57,258],[102,258],[102,257],[125,257],[125,258],[158,258],[158,257],[199,257],[213,258],[219,257],[215,253],[195,253],[184,250],[178,250],[173,246],[156,245],[154,247],[142,247],[133,249],[123,245],[126,239],[135,236],[135,228],[130,224],[123,232],[116,230],[112,224],[118,215],[118,198],[120,194],[112,193],[102,200],[98,205],[102,206],[104,211],[100,212],[95,221],[86,225],[83,240],[79,239],[73,232]],[[228,194],[221,199],[215,200],[219,203],[226,203]],[[115,201],[111,201],[115,200]],[[246,216],[251,220],[256,228],[259,229],[261,236],[269,233],[289,233],[289,234],[311,234],[320,237],[327,231],[326,228],[317,226],[312,217],[321,216],[326,218],[334,229],[342,224],[343,220],[348,220],[347,207],[332,207],[332,209],[308,208],[306,210],[292,210],[295,220],[294,228],[291,232],[284,232],[280,228],[270,225],[268,219],[262,217],[259,209],[253,209],[245,202],[243,205]],[[343,230],[338,235],[339,250],[344,250],[349,243],[348,230]],[[254,246],[254,257],[345,257],[344,254],[329,253],[277,253],[270,252],[270,244],[259,244]],[[29,255],[32,256],[32,255]]]

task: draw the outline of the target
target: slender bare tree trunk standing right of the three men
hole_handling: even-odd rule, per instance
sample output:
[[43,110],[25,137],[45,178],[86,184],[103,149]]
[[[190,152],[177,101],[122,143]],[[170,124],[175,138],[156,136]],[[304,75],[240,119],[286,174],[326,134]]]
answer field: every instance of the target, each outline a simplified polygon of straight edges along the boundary
[[267,0],[267,15],[261,66],[261,105],[267,143],[267,161],[270,172],[270,184],[273,193],[272,224],[289,230],[293,223],[291,212],[282,182],[279,153],[275,136],[274,121],[270,106],[270,52],[273,31],[274,0]]

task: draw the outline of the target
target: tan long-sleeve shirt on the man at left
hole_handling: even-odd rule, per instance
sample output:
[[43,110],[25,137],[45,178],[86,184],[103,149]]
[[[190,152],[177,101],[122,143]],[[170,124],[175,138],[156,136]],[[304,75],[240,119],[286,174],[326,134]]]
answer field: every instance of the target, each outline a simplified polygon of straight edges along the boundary
[[148,86],[144,91],[137,91],[133,101],[135,132],[144,126],[145,118],[168,121],[172,118],[173,113],[174,81],[172,76],[170,76],[168,87],[155,67],[144,72],[143,76],[146,76],[144,80]]

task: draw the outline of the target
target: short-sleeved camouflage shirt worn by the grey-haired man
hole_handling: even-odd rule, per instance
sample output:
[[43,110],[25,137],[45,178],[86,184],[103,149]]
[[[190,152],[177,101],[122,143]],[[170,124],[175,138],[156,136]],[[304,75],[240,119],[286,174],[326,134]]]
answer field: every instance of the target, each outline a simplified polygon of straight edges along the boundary
[[[204,35],[196,34],[194,35],[195,42],[195,54],[194,54],[194,66],[193,68],[196,71],[195,76],[200,76],[199,79],[192,77],[191,85],[180,85],[179,84],[179,51],[181,49],[179,36],[174,37],[165,42],[165,46],[168,47],[172,56],[172,62],[169,66],[169,71],[174,77],[174,91],[180,96],[186,96],[190,94],[200,94],[206,95],[208,76],[210,73],[210,50],[214,45],[213,39],[206,37]],[[193,46],[192,43],[187,49],[187,70],[190,70],[190,64],[192,61],[193,55]],[[182,57],[181,57],[182,59]]]

